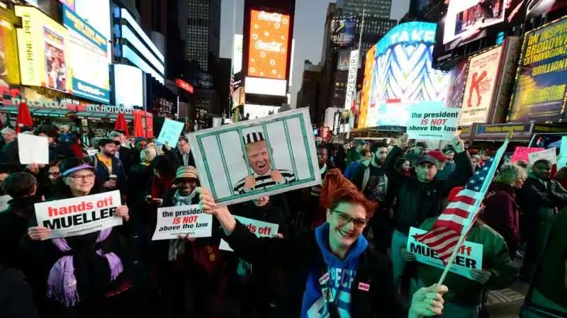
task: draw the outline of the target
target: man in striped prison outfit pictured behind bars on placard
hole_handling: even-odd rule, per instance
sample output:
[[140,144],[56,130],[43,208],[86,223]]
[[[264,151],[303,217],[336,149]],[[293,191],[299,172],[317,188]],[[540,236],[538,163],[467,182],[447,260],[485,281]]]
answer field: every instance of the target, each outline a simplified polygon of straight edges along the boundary
[[285,169],[271,169],[270,150],[263,132],[249,132],[243,137],[245,143],[245,156],[252,169],[252,176],[242,178],[235,184],[235,194],[249,193],[263,190],[273,186],[290,183],[295,180],[292,171]]

